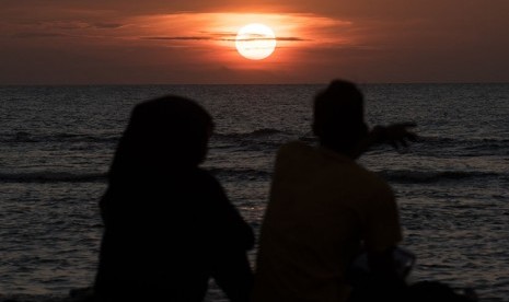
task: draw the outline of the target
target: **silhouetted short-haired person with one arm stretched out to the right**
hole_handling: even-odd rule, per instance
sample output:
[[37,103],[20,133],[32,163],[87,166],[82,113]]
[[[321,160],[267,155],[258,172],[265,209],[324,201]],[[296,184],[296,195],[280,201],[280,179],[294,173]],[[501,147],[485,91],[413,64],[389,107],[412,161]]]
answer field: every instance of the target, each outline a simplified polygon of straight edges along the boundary
[[391,256],[402,240],[393,190],[356,159],[373,143],[414,139],[410,126],[369,131],[362,93],[350,82],[333,81],[317,94],[320,146],[293,141],[277,153],[253,302],[347,301],[347,269],[361,251],[382,290],[401,286]]

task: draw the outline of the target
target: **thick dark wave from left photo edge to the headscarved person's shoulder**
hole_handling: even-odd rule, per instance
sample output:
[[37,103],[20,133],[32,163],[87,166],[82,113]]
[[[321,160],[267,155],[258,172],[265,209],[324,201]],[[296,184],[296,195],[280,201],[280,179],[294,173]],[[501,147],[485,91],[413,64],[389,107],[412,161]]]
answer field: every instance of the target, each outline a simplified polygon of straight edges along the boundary
[[74,174],[68,172],[0,173],[1,183],[97,183],[106,182],[106,173]]

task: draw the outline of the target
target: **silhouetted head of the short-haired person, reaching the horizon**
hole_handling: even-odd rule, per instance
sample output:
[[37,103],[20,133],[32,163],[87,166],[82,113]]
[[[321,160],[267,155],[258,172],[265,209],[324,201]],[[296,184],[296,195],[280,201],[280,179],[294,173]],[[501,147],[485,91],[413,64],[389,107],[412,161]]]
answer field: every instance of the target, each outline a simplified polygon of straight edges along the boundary
[[368,132],[363,96],[351,82],[334,80],[314,98],[313,132],[321,144],[348,152]]

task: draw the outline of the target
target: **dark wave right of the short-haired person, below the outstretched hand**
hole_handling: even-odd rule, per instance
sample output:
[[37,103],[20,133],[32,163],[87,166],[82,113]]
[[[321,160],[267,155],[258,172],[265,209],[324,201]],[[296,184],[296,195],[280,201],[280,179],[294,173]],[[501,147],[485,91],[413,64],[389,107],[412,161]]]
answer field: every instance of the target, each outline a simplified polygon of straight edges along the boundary
[[378,174],[389,182],[394,183],[439,183],[439,182],[454,182],[467,181],[473,178],[498,178],[502,175],[489,172],[471,172],[471,171],[407,171],[407,170],[392,170],[381,171]]

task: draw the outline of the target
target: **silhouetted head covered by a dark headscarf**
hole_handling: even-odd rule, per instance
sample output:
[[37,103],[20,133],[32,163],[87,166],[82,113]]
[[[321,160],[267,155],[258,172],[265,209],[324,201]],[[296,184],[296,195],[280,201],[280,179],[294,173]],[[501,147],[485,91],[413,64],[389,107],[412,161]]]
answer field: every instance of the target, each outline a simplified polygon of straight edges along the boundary
[[199,165],[212,118],[196,102],[167,95],[138,104],[120,138],[111,177],[150,177]]

